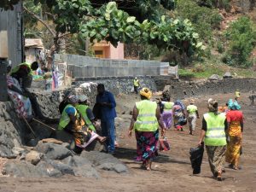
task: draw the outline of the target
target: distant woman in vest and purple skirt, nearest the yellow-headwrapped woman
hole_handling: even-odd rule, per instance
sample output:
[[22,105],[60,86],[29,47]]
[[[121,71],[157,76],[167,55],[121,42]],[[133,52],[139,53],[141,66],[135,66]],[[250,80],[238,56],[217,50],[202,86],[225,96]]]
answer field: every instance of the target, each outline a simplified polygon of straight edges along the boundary
[[174,102],[171,102],[171,97],[168,96],[165,102],[160,100],[160,103],[164,106],[161,117],[163,119],[163,123],[166,129],[169,130],[172,127],[172,107],[174,105]]

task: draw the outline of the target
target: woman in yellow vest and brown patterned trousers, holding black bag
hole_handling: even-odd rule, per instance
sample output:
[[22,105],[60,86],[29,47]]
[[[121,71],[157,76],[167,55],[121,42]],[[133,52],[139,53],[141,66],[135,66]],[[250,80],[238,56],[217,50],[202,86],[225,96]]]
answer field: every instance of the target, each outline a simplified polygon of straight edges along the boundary
[[226,152],[226,134],[228,125],[224,113],[218,113],[218,102],[213,99],[208,100],[209,112],[203,115],[201,138],[207,148],[207,155],[213,177],[222,181],[222,172],[224,169],[224,160]]

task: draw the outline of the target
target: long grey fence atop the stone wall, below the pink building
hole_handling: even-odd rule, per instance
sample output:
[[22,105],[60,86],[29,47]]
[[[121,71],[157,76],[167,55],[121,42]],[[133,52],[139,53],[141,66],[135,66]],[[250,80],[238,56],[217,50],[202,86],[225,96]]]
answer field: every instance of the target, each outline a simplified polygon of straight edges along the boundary
[[177,76],[177,67],[168,62],[144,60],[110,60],[81,55],[55,54],[55,63],[67,63],[67,73],[73,78],[125,77],[125,76]]

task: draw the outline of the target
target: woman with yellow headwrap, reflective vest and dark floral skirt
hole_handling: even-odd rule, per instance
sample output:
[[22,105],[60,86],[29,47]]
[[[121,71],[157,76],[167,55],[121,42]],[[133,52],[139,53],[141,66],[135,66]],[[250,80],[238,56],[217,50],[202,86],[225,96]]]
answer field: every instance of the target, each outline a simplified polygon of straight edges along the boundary
[[151,102],[152,92],[148,88],[140,90],[141,102],[136,102],[128,136],[135,129],[137,139],[137,154],[142,157],[143,166],[151,170],[153,158],[157,155],[157,143],[159,140],[159,125],[161,135],[164,135],[165,126],[160,121],[160,108],[156,102]]

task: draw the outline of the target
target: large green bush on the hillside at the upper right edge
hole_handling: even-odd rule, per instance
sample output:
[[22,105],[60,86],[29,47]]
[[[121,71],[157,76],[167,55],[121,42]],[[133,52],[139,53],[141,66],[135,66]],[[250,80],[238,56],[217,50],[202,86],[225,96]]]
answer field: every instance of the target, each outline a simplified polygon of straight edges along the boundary
[[230,43],[224,62],[230,66],[251,67],[253,62],[250,55],[256,44],[253,21],[248,17],[241,17],[232,23],[225,35]]

